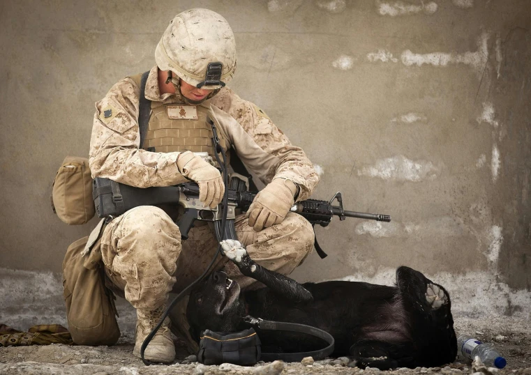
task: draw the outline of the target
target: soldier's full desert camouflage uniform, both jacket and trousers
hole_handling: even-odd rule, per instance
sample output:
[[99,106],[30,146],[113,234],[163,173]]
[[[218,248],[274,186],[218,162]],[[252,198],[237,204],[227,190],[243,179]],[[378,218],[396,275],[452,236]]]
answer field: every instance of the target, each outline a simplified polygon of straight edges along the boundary
[[[153,102],[181,103],[175,94],[160,95],[156,66],[149,72],[145,95]],[[179,152],[139,149],[139,96],[139,86],[125,78],[96,102],[89,155],[92,175],[140,188],[188,181],[177,168]],[[262,182],[285,178],[299,187],[297,200],[310,196],[319,181],[313,165],[258,107],[226,87],[202,105],[209,107],[218,131]],[[109,108],[112,116],[104,116]],[[248,226],[245,215],[239,215],[236,229],[237,238],[251,258],[285,275],[313,248],[311,224],[294,213],[288,213],[281,224],[260,232]],[[191,229],[189,239],[181,243],[179,227],[172,218],[152,206],[133,208],[112,220],[101,244],[107,276],[137,309],[158,307],[172,289],[183,289],[207,267],[217,248],[214,234],[203,223]],[[241,277],[229,264],[227,270],[242,287],[254,281]]]

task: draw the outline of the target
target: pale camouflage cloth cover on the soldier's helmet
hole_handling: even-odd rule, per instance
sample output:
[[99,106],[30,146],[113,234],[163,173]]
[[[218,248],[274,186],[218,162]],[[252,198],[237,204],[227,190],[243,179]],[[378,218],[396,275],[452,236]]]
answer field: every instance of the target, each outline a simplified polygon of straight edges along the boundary
[[[212,10],[193,8],[179,13],[167,26],[155,50],[160,70],[171,70],[186,83],[203,82],[209,63],[222,63],[222,82],[229,82],[236,69],[236,43],[232,29]],[[204,89],[219,89],[203,86]]]

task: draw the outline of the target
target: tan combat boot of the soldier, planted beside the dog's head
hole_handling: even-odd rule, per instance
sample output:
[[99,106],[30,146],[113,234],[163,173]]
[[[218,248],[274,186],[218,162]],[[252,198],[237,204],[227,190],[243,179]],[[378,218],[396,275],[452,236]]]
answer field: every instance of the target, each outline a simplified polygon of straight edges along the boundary
[[[165,311],[165,305],[155,310],[137,309],[135,349],[133,355],[140,357],[140,349],[147,335],[155,328]],[[151,362],[171,363],[175,360],[175,346],[170,333],[170,319],[166,318],[144,351],[144,359]]]

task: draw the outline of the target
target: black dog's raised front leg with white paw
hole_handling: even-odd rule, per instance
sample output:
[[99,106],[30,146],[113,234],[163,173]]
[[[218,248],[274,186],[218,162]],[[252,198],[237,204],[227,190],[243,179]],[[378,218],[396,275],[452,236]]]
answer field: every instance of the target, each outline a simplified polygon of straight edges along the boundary
[[313,300],[312,294],[295,280],[255,263],[253,259],[250,259],[244,246],[239,241],[224,240],[220,244],[225,257],[236,264],[243,275],[253,277],[253,279],[262,282],[271,291],[284,298],[289,298],[297,302],[309,302]]

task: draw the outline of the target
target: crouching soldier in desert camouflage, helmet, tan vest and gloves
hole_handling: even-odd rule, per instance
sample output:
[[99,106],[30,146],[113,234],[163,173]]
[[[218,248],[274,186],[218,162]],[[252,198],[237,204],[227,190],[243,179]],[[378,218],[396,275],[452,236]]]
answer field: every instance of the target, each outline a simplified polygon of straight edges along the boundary
[[[216,152],[207,122],[211,118],[221,146],[234,148],[267,184],[248,212],[237,216],[237,238],[257,263],[284,275],[292,273],[311,252],[314,234],[311,224],[290,208],[311,195],[319,177],[304,151],[293,146],[260,108],[225,86],[236,68],[229,24],[207,9],[180,13],[160,39],[155,61],[144,91],[151,100],[151,117],[143,145],[138,125],[140,75],[122,79],[96,102],[89,155],[92,176],[139,188],[195,181],[201,201],[215,207],[223,198],[223,178],[195,154]],[[180,214],[141,206],[115,218],[103,231],[107,280],[137,311],[133,353],[138,357],[170,291],[181,291],[195,280],[217,249],[214,233],[204,222],[196,222],[188,240],[181,243],[174,224]],[[225,269],[242,288],[254,282],[232,263]],[[177,310],[170,316],[172,330],[189,339],[186,308]],[[144,358],[174,361],[169,326],[166,320]]]

